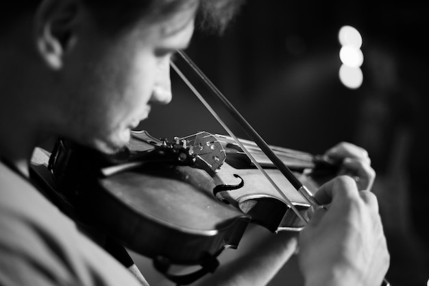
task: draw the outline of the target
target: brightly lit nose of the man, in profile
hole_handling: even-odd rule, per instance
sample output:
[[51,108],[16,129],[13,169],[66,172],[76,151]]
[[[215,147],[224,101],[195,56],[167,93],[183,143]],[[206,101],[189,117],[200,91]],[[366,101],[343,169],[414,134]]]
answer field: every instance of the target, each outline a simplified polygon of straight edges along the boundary
[[168,104],[171,102],[170,61],[164,60],[158,67],[151,102]]

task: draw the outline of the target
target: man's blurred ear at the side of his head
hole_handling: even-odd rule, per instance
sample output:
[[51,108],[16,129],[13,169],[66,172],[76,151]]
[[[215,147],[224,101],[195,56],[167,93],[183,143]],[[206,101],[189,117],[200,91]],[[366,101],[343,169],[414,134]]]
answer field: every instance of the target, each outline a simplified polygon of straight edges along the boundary
[[36,13],[36,41],[40,56],[51,69],[61,69],[64,56],[77,40],[79,0],[44,0]]

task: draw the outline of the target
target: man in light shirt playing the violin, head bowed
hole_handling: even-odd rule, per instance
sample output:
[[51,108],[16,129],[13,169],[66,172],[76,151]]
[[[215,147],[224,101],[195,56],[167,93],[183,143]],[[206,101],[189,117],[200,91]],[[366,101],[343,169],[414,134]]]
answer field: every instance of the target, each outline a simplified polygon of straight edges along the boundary
[[[188,45],[197,11],[222,27],[238,1],[21,1],[4,13],[0,47],[0,285],[138,285],[79,233],[29,180],[34,147],[61,135],[112,153],[154,103],[171,100],[169,61]],[[6,9],[5,9],[6,10]],[[5,11],[3,10],[3,11]],[[341,144],[357,185],[341,176],[316,198],[302,231],[306,285],[381,285],[389,266],[374,174],[364,150]],[[361,191],[360,191],[361,190]],[[264,285],[289,259],[287,235],[206,277],[204,285]],[[145,283],[143,280],[142,283]]]

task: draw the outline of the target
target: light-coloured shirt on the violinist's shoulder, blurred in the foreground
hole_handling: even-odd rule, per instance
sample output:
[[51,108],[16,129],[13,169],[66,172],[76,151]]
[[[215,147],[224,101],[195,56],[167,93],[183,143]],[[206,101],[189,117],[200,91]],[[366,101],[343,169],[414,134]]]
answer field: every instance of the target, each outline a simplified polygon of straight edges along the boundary
[[141,286],[29,181],[1,162],[0,285]]

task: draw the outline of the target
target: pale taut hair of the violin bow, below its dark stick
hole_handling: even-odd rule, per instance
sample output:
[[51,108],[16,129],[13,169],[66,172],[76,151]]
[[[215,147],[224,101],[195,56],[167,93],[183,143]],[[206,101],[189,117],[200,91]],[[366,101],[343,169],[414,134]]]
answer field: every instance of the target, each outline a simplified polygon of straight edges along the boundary
[[217,115],[215,110],[212,109],[212,107],[208,104],[208,102],[206,102],[206,100],[197,91],[195,86],[193,86],[193,84],[191,84],[191,82],[189,82],[189,80],[185,77],[185,75],[182,73],[182,71],[180,71],[180,69],[177,68],[177,66],[174,64],[174,62],[170,62],[170,64],[171,64],[171,67],[173,67],[173,69],[177,73],[177,75],[179,75],[180,78],[182,78],[182,80],[186,83],[188,88],[190,88],[191,91],[193,91],[195,96],[197,96],[199,101],[207,108],[207,110],[212,114],[212,116],[215,117],[215,119],[219,122],[219,124],[221,124],[221,126],[225,129],[225,131],[228,132],[228,134],[230,134],[230,136],[232,136],[232,138],[234,138],[234,140],[236,140],[238,145],[240,145],[241,149],[246,153],[246,155],[250,158],[250,160],[252,160],[252,163],[254,163],[254,165],[259,169],[259,171],[265,176],[265,178],[267,178],[267,180],[269,180],[270,184],[280,194],[280,196],[283,198],[283,200],[286,202],[286,204],[289,205],[289,207],[293,210],[293,212],[297,215],[297,217],[299,217],[299,219],[302,219],[307,224],[308,220],[301,213],[299,213],[298,209],[292,204],[291,200],[289,200],[289,198],[287,198],[287,196],[283,193],[283,191],[280,189],[280,187],[278,187],[278,185],[275,184],[275,182],[271,179],[271,177],[267,174],[267,172],[264,169],[262,169],[262,167],[259,165],[259,163],[252,156],[252,154],[250,154],[250,152],[247,151],[247,149],[245,148],[243,143],[238,141],[238,138],[235,136],[235,134],[230,130],[230,128],[228,128],[228,126],[226,126],[226,124],[219,117],[219,115]]

